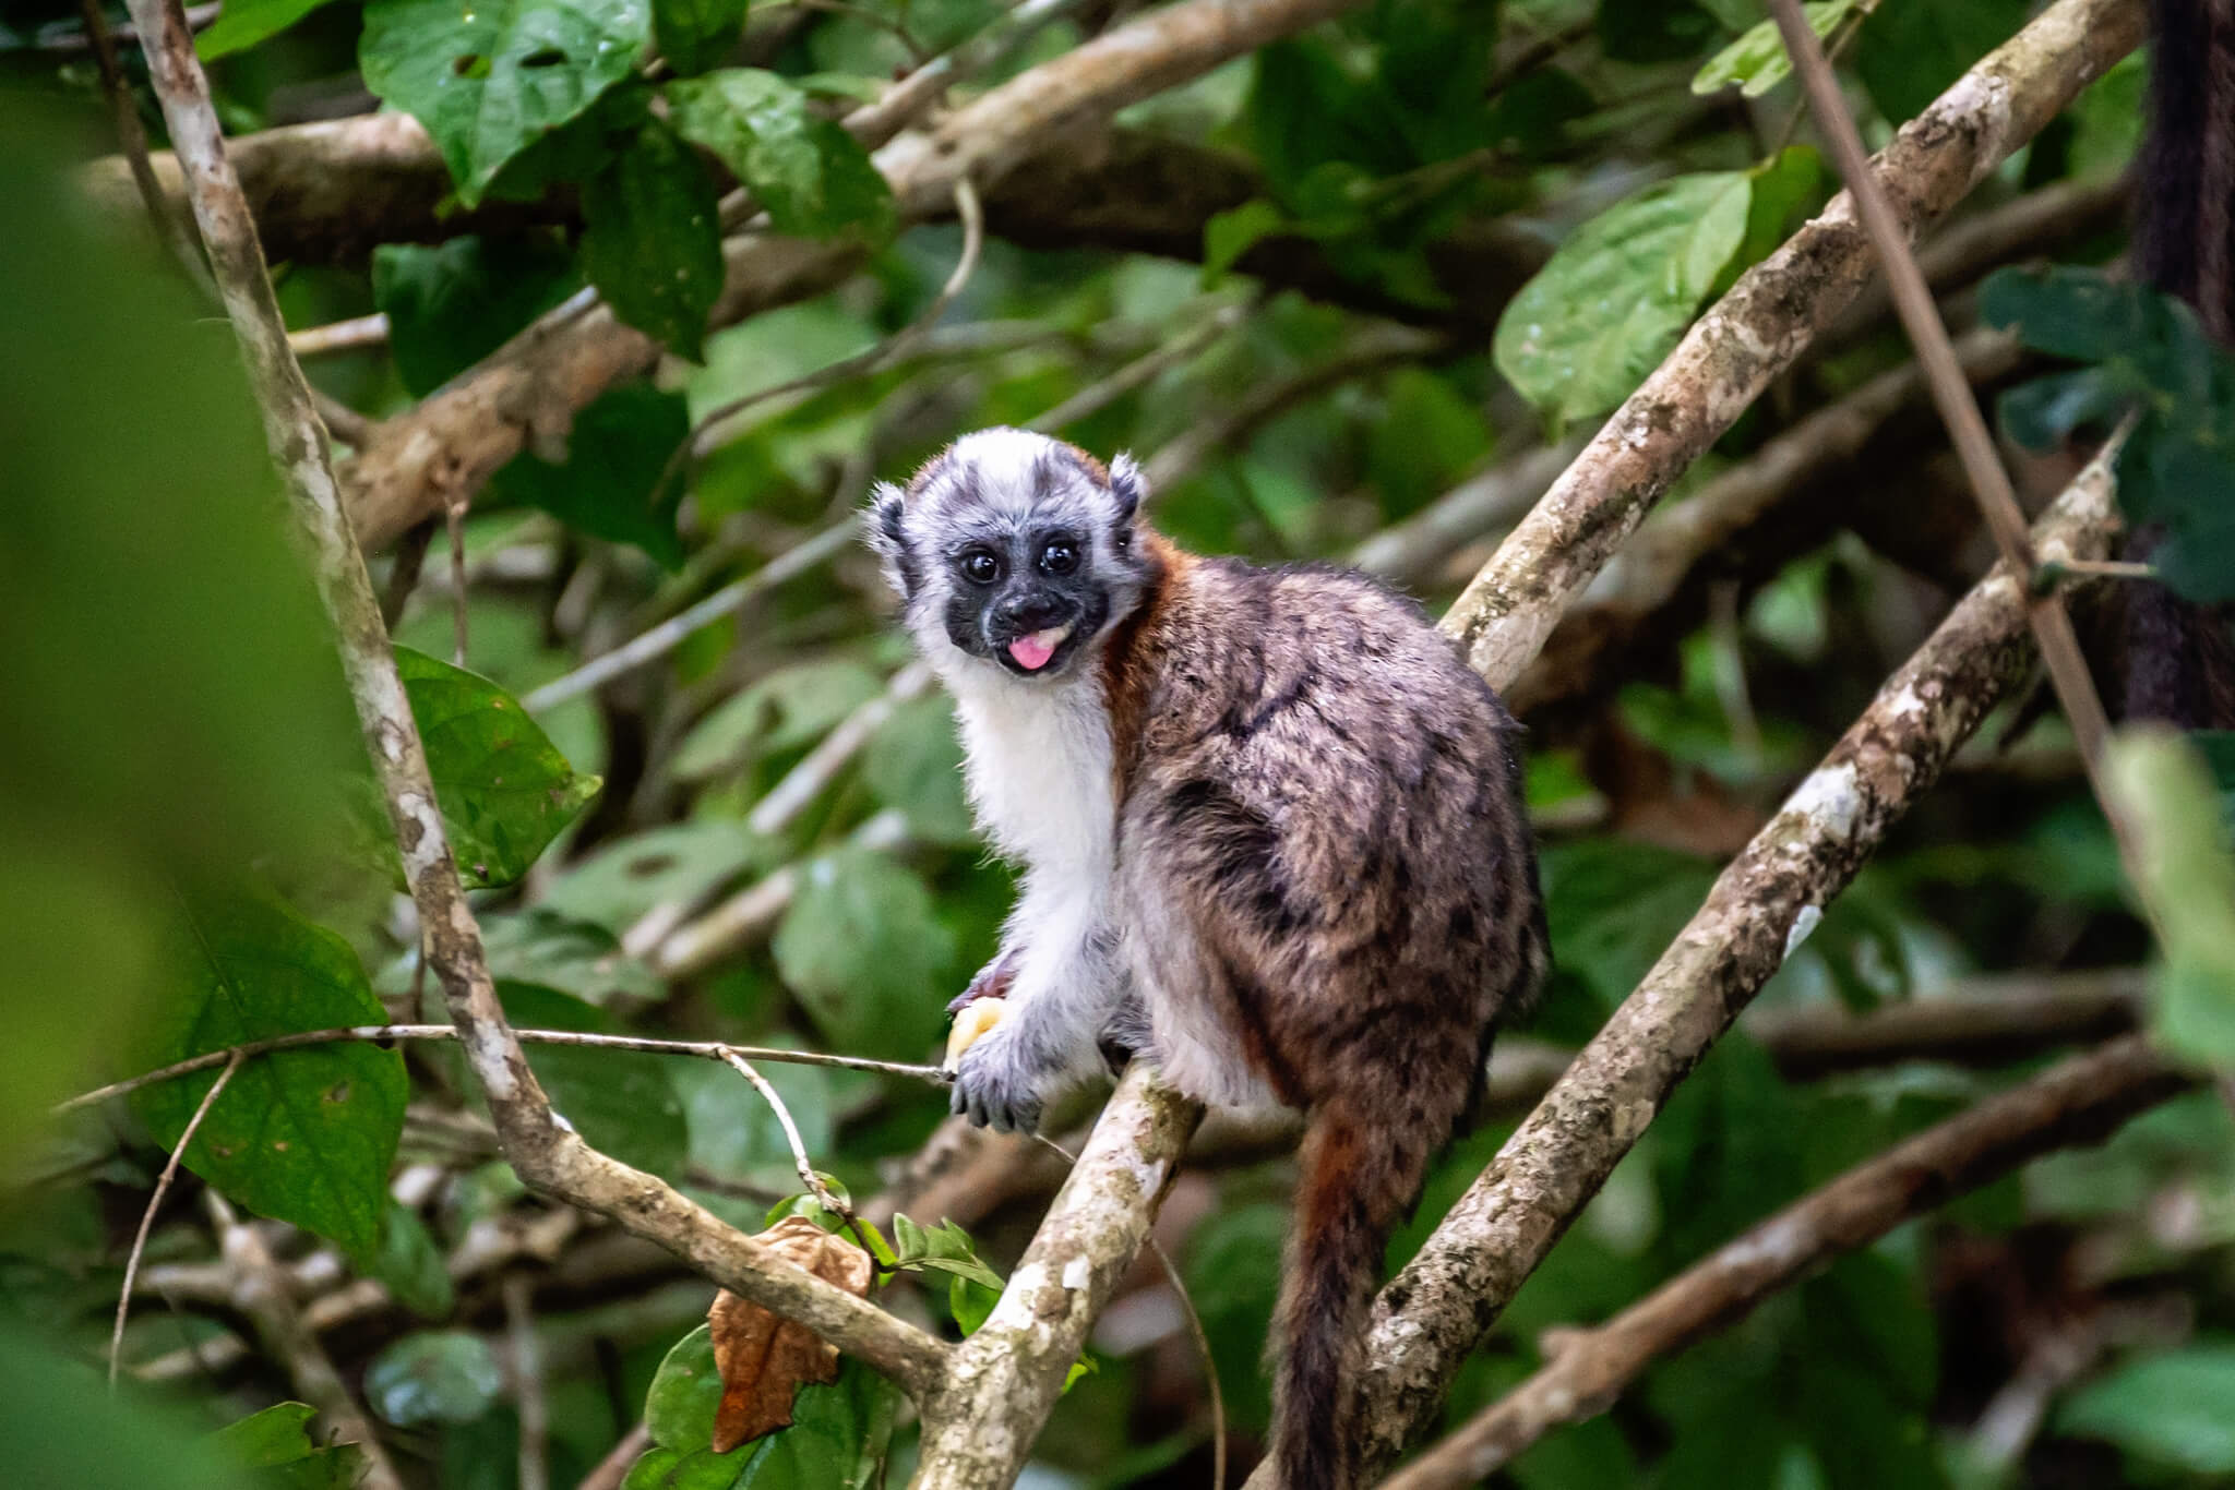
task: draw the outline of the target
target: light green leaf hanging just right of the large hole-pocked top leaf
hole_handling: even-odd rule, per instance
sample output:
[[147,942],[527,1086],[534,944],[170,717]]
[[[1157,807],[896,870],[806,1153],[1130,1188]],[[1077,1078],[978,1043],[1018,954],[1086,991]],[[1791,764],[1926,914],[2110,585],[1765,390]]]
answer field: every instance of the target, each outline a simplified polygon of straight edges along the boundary
[[814,114],[807,94],[773,71],[724,67],[666,85],[675,127],[713,152],[778,232],[881,239],[892,230],[892,188],[840,125]]

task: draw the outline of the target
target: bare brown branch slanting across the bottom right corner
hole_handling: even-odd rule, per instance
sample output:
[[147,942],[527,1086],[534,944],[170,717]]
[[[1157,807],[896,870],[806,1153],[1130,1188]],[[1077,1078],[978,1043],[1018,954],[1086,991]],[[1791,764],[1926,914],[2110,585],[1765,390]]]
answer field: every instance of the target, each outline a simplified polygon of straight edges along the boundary
[[2188,1086],[2134,1034],[1895,1144],[1567,1340],[1535,1376],[1392,1474],[1383,1490],[1457,1490],[1495,1474],[1553,1427],[1605,1412],[1656,1358],[1734,1325],[1833,1258],[2045,1153],[2101,1144]]

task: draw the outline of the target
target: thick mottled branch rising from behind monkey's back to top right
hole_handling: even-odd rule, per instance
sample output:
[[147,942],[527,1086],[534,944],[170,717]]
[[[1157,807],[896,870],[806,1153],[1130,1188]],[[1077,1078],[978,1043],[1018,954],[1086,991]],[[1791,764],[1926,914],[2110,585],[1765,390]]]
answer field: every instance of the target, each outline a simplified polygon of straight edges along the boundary
[[[1953,206],[2141,31],[2134,0],[2056,0],[1902,125],[1873,170],[1904,232]],[[1444,617],[1493,686],[1520,677],[1645,512],[1855,299],[1871,268],[1868,237],[1842,192],[1694,322]]]

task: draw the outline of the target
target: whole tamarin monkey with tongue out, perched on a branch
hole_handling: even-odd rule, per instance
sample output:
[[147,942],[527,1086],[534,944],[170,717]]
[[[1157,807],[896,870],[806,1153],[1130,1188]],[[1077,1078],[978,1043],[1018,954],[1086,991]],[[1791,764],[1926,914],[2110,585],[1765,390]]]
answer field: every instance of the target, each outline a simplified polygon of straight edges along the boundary
[[1408,601],[1185,554],[1144,496],[1131,458],[1019,429],[874,494],[979,822],[1024,867],[957,1001],[954,1110],[1030,1130],[1104,1050],[1303,1108],[1272,1450],[1287,1490],[1348,1490],[1381,1249],[1551,961],[1518,726]]

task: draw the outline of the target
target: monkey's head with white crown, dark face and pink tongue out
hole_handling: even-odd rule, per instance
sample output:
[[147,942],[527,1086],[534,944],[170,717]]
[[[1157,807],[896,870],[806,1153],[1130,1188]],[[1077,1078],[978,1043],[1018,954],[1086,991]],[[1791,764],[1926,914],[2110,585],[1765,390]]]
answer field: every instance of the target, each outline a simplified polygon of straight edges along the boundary
[[[1140,605],[1144,483],[1021,429],[963,436],[907,483],[872,491],[869,543],[916,643],[1010,677],[1055,679]],[[952,650],[950,650],[952,648]]]

